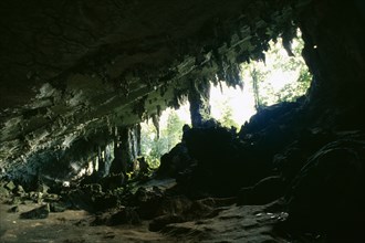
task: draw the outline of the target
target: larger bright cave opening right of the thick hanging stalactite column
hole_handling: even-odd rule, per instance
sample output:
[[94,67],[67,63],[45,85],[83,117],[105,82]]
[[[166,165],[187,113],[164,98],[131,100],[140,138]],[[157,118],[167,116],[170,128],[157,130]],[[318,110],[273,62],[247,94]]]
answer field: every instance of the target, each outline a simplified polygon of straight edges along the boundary
[[278,39],[270,41],[264,61],[242,63],[243,88],[228,87],[225,82],[211,85],[211,116],[223,126],[239,128],[263,107],[305,95],[312,75],[301,55],[304,42],[299,30],[296,35],[291,50],[283,49]]

